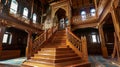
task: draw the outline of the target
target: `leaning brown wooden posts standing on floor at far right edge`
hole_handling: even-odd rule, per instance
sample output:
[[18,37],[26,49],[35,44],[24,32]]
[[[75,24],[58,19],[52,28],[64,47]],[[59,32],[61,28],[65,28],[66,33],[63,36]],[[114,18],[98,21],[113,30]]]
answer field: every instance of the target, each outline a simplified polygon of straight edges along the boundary
[[115,58],[116,55],[118,61],[120,62],[120,42],[118,40],[117,35],[114,33],[114,49],[113,49],[112,58]]

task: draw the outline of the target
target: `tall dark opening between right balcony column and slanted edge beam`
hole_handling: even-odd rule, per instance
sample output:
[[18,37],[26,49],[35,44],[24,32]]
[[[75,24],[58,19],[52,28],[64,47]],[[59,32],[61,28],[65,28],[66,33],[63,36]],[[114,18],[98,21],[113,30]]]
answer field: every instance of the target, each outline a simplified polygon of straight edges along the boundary
[[111,54],[113,53],[113,48],[114,48],[115,29],[113,25],[112,16],[110,13],[107,15],[107,17],[104,20],[103,32],[104,32],[105,45],[107,47],[108,55],[111,56]]

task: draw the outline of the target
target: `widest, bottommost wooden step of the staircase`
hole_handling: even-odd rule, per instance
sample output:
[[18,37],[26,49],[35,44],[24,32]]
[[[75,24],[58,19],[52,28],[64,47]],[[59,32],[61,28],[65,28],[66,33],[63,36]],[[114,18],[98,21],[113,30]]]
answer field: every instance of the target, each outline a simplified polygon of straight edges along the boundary
[[25,65],[27,67],[35,67],[35,64],[39,64],[40,65],[44,65],[45,67],[91,67],[91,63],[90,62],[84,62],[82,60],[76,60],[76,61],[67,61],[67,62],[62,62],[62,63],[46,63],[43,61],[34,61],[34,60],[28,60],[28,63],[24,63],[23,65]]

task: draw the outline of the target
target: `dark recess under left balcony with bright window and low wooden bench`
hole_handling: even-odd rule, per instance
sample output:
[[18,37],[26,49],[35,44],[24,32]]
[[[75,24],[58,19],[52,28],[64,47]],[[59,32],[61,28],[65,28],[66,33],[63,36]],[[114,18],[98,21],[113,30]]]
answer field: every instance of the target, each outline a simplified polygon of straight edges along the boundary
[[27,35],[23,30],[6,27],[2,38],[0,60],[25,57]]

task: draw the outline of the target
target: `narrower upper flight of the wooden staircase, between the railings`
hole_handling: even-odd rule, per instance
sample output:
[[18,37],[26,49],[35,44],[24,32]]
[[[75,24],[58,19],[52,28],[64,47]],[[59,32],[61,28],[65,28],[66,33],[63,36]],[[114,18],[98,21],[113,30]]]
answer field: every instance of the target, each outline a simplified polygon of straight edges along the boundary
[[66,48],[66,32],[65,30],[57,31],[53,36],[43,45],[42,48]]

